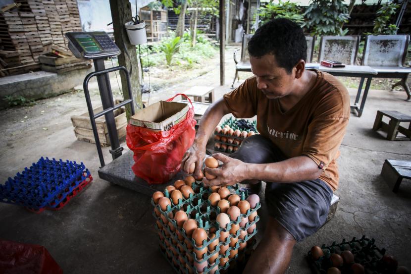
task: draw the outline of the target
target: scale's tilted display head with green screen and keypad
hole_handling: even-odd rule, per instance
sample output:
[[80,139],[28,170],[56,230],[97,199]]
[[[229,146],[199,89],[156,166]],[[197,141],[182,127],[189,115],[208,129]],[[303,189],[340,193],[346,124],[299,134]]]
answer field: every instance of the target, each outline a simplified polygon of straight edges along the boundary
[[120,49],[103,31],[99,32],[67,32],[65,34],[71,52],[81,59],[98,59],[116,56]]

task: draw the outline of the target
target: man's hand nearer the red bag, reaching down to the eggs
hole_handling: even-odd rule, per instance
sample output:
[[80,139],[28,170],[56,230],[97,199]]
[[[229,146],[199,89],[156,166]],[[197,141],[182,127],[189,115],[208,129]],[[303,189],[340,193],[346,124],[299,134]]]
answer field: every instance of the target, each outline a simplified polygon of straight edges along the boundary
[[201,146],[194,142],[194,144],[187,150],[184,154],[183,160],[181,161],[181,168],[186,173],[190,172],[190,166],[195,163],[196,169],[194,170],[193,176],[196,180],[202,180],[204,177],[203,171],[203,160],[205,158],[205,146]]

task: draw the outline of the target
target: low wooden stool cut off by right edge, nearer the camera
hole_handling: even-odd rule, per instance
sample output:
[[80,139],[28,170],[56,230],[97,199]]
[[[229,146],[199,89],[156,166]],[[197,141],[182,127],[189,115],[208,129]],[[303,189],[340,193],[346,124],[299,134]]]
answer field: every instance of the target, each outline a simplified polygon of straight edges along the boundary
[[403,179],[411,179],[411,161],[385,160],[381,176],[387,183],[394,185],[393,192],[397,193]]

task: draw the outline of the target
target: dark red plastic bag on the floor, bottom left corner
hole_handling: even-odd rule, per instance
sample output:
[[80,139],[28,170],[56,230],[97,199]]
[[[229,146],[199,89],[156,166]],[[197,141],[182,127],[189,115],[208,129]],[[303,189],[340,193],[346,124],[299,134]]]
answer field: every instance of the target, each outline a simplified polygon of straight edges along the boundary
[[0,273],[63,274],[63,271],[44,246],[0,240]]

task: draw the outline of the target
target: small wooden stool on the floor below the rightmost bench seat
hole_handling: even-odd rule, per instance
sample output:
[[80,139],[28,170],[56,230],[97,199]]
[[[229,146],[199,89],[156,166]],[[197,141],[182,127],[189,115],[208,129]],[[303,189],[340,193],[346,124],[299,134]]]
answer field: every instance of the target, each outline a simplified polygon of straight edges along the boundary
[[[384,115],[391,118],[388,124],[382,121]],[[409,122],[408,129],[401,126],[401,122]],[[411,116],[396,110],[377,110],[377,116],[375,117],[372,129],[375,131],[382,129],[387,132],[387,140],[411,141]],[[401,132],[406,137],[397,137],[398,132]]]

